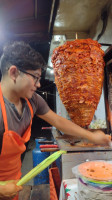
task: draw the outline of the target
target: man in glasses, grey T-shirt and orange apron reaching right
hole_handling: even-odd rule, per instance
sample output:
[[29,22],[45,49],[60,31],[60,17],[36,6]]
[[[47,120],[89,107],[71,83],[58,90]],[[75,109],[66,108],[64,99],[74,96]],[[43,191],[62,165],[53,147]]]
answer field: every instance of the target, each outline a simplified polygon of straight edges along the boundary
[[[42,56],[24,42],[4,47],[1,56],[0,85],[0,180],[21,177],[21,154],[30,139],[32,118],[36,114],[65,134],[85,138],[96,144],[108,144],[101,131],[94,133],[58,116],[36,90],[45,62]],[[16,198],[17,199],[17,198]]]

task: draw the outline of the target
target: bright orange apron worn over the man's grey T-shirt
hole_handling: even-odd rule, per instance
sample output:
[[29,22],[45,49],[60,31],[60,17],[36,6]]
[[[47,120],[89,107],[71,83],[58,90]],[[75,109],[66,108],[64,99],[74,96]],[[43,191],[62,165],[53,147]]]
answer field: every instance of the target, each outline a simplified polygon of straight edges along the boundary
[[[0,181],[17,180],[21,177],[21,154],[26,150],[25,143],[30,139],[33,118],[32,106],[27,99],[26,101],[31,112],[31,121],[29,127],[21,137],[16,132],[8,130],[6,108],[0,86],[0,104],[5,128],[0,154]],[[16,199],[18,198],[14,198],[14,200]]]

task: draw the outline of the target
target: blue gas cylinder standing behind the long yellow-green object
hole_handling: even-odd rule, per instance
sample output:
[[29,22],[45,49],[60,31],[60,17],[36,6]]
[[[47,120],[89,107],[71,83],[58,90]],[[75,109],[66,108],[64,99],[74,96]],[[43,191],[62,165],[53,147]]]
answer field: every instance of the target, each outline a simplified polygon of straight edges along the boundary
[[[38,138],[35,139],[36,147],[32,151],[33,156],[33,167],[41,163],[43,160],[45,160],[48,156],[50,156],[49,152],[41,152],[40,151],[40,145],[39,141],[45,141],[45,138]],[[44,171],[42,171],[39,175],[37,175],[34,178],[34,185],[40,185],[40,184],[48,184],[49,183],[49,172],[48,168],[46,168]]]

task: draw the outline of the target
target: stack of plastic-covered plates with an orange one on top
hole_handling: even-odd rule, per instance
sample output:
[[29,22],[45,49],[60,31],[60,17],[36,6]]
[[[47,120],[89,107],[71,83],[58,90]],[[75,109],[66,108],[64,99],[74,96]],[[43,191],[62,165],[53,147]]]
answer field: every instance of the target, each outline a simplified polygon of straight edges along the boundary
[[[111,169],[111,166],[106,163],[112,165],[111,161],[94,160],[72,168],[73,174],[78,179],[78,200],[112,200],[112,180],[110,175],[110,180],[108,180],[108,169]],[[95,172],[98,174],[99,169],[101,177],[96,176],[95,179]],[[107,180],[104,179],[102,174],[107,174]]]

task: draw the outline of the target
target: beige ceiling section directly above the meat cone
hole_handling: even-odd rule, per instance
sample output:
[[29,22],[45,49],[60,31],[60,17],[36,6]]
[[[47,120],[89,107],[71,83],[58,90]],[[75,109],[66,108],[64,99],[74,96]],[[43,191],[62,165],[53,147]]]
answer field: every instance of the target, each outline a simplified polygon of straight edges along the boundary
[[92,25],[99,21],[101,13],[109,0],[61,0],[54,23],[54,34],[66,37],[88,37]]

